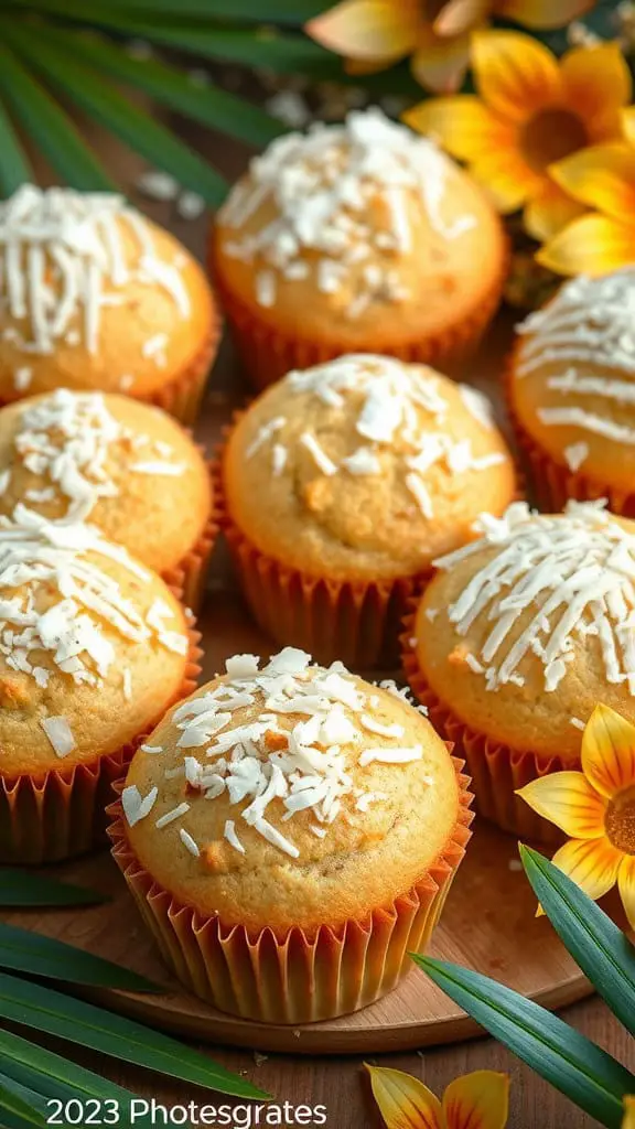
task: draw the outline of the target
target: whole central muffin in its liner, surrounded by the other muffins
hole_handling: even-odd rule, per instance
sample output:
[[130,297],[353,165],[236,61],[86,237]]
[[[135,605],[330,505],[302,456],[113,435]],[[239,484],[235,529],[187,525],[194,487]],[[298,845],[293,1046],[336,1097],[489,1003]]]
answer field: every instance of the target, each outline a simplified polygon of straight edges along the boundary
[[418,365],[342,357],[290,373],[235,422],[224,524],[261,627],[321,663],[390,665],[432,561],[514,497],[488,402]]

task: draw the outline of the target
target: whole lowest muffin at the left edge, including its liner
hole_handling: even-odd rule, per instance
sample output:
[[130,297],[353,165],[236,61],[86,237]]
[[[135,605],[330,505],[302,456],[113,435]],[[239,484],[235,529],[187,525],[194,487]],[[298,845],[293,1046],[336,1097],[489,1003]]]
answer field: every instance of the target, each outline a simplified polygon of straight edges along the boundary
[[197,637],[158,577],[87,526],[0,526],[0,861],[104,829],[112,782],[191,693]]

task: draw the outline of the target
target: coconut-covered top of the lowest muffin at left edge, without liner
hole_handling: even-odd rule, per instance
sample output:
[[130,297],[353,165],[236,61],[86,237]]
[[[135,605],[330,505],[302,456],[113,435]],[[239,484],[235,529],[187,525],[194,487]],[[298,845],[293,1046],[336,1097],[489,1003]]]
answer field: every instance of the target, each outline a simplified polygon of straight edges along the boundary
[[0,773],[118,751],[179,695],[185,613],[88,526],[0,525]]

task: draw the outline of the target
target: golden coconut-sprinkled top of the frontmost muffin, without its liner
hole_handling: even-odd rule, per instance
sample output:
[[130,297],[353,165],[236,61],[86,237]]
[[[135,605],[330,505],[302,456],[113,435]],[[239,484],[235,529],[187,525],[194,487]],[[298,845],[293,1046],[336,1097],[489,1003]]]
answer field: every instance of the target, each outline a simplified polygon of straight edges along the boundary
[[452,759],[405,692],[310,664],[292,647],[262,669],[253,655],[229,659],[128,772],[136,856],[224,924],[365,917],[426,874],[460,819]]

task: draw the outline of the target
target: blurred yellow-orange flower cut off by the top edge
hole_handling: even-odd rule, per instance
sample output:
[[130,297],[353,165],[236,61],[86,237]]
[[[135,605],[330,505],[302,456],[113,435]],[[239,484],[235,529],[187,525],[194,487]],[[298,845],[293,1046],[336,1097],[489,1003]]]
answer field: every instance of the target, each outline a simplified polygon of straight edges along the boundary
[[458,90],[470,56],[470,32],[488,16],[525,27],[562,27],[595,0],[343,0],[305,30],[345,55],[348,70],[372,73],[412,56],[415,78],[429,90]]

